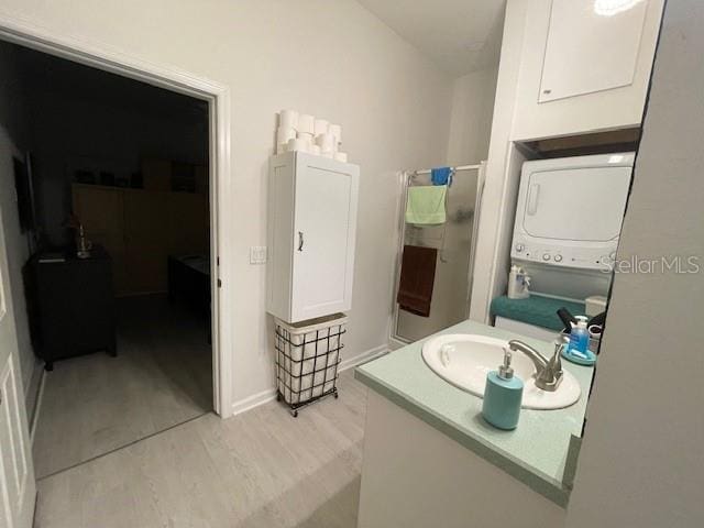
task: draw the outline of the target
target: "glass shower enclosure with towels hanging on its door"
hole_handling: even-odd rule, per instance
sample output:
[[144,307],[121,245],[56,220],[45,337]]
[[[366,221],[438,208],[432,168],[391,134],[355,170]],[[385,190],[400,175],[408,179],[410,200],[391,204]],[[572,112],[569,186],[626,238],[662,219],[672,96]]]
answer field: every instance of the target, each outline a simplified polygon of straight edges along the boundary
[[[409,343],[469,318],[474,245],[479,228],[485,162],[454,167],[447,191],[447,221],[438,226],[406,223],[408,188],[432,185],[430,170],[402,174],[399,244],[392,340]],[[396,301],[400,283],[404,246],[435,248],[436,272],[428,317],[400,308]]]

